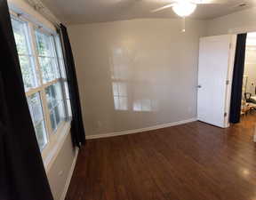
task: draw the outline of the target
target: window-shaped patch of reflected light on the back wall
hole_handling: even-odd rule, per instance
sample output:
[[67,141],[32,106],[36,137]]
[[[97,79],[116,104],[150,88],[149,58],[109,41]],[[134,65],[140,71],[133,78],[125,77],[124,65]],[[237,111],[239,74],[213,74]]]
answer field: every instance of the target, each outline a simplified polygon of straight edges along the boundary
[[144,70],[140,73],[138,57],[132,53],[129,49],[116,47],[109,57],[114,108],[117,111],[157,111],[153,83],[148,81]]

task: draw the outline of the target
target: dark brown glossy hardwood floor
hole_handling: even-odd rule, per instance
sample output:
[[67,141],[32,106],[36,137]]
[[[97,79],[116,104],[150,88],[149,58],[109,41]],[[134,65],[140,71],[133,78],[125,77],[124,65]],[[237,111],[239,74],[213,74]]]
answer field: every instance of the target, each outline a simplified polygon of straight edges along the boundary
[[66,200],[256,200],[256,115],[88,140]]

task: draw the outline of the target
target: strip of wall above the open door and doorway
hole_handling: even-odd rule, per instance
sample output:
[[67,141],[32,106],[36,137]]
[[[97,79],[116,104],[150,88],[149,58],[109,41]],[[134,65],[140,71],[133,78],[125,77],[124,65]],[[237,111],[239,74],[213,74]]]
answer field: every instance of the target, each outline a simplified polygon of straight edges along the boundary
[[208,36],[256,31],[256,7],[208,20]]

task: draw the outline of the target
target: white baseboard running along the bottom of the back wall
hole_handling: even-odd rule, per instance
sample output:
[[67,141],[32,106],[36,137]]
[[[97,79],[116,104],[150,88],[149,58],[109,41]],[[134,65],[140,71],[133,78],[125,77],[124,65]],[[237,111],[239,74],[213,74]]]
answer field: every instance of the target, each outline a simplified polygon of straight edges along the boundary
[[127,134],[132,134],[132,133],[137,133],[137,132],[148,132],[156,129],[162,129],[174,125],[180,125],[180,124],[187,124],[190,122],[195,122],[197,121],[196,117],[195,118],[190,118],[186,120],[181,120],[178,122],[173,122],[173,123],[166,123],[166,124],[158,124],[154,126],[149,126],[146,128],[141,128],[141,129],[133,129],[133,130],[127,130],[123,132],[108,132],[108,133],[101,133],[101,134],[95,134],[95,135],[87,135],[86,139],[87,140],[92,140],[92,139],[99,139],[99,138],[108,138],[108,137],[114,137],[118,135],[127,135]]

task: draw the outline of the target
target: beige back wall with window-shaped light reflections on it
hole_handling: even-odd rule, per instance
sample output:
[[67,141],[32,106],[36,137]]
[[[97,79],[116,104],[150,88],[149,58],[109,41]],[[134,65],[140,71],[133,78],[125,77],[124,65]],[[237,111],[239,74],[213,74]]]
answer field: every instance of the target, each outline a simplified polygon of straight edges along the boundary
[[[69,26],[86,134],[196,117],[198,41],[204,25],[188,20],[186,33],[180,32],[181,20]],[[114,99],[120,104],[115,106]]]

